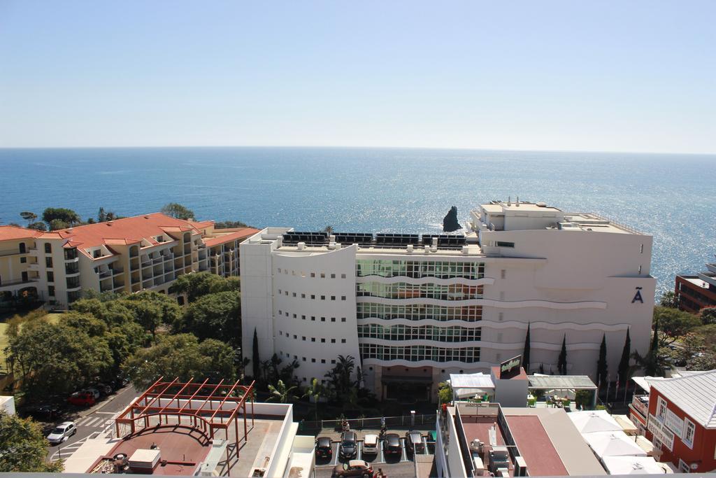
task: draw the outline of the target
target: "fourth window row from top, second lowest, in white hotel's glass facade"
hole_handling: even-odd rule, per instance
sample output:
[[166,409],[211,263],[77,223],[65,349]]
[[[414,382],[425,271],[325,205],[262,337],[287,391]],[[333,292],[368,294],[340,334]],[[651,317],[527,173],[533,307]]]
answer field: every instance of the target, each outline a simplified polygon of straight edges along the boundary
[[437,327],[424,325],[358,325],[358,338],[379,338],[383,340],[437,340],[438,342],[466,342],[480,340],[481,329],[459,327]]

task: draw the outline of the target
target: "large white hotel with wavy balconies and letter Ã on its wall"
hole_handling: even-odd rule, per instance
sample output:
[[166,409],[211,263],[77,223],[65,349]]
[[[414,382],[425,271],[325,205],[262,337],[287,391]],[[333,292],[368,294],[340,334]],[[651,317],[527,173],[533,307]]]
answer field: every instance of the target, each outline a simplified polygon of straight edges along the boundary
[[450,373],[523,352],[531,372],[594,377],[606,333],[612,375],[627,328],[649,346],[652,236],[595,214],[491,201],[465,236],[301,233],[267,228],[240,246],[243,355],[298,360],[324,378],[352,355],[377,396],[435,396]]

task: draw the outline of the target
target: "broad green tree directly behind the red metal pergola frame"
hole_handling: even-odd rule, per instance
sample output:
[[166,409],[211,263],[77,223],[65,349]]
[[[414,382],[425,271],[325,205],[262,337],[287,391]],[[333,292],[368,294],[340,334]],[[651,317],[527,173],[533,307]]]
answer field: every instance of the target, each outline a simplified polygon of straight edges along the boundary
[[233,349],[226,343],[208,339],[199,343],[191,334],[163,335],[150,348],[140,349],[127,359],[124,370],[137,388],[147,388],[158,378],[180,381],[195,378],[211,383],[233,381],[236,368]]

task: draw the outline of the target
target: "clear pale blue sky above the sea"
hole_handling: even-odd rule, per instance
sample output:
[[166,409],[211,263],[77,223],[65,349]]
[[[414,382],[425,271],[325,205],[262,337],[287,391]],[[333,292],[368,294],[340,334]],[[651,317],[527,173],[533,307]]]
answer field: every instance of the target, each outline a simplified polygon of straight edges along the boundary
[[716,1],[0,0],[0,147],[716,153]]

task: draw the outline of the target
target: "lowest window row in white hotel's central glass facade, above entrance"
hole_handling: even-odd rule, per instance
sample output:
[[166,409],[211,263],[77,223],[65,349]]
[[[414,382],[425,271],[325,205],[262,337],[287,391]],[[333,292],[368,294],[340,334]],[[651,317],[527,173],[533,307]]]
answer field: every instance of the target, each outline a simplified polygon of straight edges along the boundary
[[362,358],[377,358],[379,360],[432,360],[435,362],[465,362],[480,361],[479,347],[440,348],[425,345],[407,345],[407,347],[388,347],[374,343],[359,344]]

